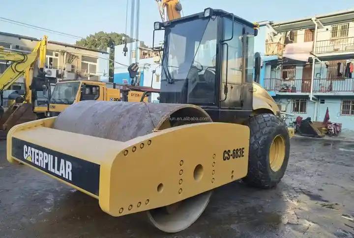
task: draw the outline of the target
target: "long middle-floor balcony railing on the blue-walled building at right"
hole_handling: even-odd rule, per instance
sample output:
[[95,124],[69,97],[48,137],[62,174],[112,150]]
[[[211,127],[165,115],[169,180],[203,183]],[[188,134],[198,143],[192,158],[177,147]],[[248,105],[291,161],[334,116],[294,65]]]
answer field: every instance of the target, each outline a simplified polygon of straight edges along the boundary
[[[264,88],[267,91],[278,93],[310,93],[311,79],[264,79]],[[319,79],[313,83],[314,93],[354,92],[354,78]]]

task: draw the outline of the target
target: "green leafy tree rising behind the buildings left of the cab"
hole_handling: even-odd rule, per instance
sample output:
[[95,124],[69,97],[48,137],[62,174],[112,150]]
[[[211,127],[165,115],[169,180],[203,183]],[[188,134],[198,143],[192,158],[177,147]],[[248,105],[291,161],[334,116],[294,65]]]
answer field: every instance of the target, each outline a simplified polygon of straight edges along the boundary
[[76,41],[77,46],[86,47],[90,49],[103,50],[106,51],[107,47],[110,47],[110,67],[109,67],[109,78],[113,79],[114,74],[114,46],[121,45],[124,43],[123,37],[126,38],[127,43],[133,42],[133,40],[125,35],[124,33],[111,32],[107,33],[104,31],[96,32],[93,35],[87,36],[85,39]]

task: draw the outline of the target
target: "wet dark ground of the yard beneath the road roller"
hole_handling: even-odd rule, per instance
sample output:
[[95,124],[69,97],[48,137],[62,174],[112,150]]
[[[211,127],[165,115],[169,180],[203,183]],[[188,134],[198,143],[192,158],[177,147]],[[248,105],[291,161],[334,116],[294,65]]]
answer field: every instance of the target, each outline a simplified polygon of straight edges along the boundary
[[188,229],[164,234],[146,214],[112,217],[98,201],[29,167],[0,142],[1,237],[354,237],[354,143],[293,138],[276,189],[235,182],[214,190]]

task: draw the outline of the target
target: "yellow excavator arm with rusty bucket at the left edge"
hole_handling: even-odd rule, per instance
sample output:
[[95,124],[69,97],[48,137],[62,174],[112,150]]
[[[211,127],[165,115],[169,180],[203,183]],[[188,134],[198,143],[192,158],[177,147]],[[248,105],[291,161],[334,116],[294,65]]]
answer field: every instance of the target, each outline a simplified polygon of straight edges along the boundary
[[[46,104],[36,105],[36,92],[31,87],[39,85],[43,91],[44,79],[33,77],[34,74],[43,74],[46,60],[47,36],[44,36],[35,46],[31,53],[25,54],[15,51],[8,51],[0,48],[0,59],[8,62],[7,69],[0,75],[0,130],[7,131],[13,125],[37,119],[36,113],[44,113],[47,110]],[[36,63],[39,61],[39,69]],[[4,112],[2,107],[2,92],[10,88],[21,76],[24,76],[25,96],[15,98],[15,103],[10,103]]]

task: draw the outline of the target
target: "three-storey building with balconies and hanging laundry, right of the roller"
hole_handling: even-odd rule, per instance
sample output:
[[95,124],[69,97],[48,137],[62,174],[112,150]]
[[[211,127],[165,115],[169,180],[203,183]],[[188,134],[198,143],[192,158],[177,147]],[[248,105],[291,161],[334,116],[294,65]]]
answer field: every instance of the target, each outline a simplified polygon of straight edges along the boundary
[[260,83],[280,108],[314,121],[328,108],[331,121],[354,130],[354,9],[260,24]]

